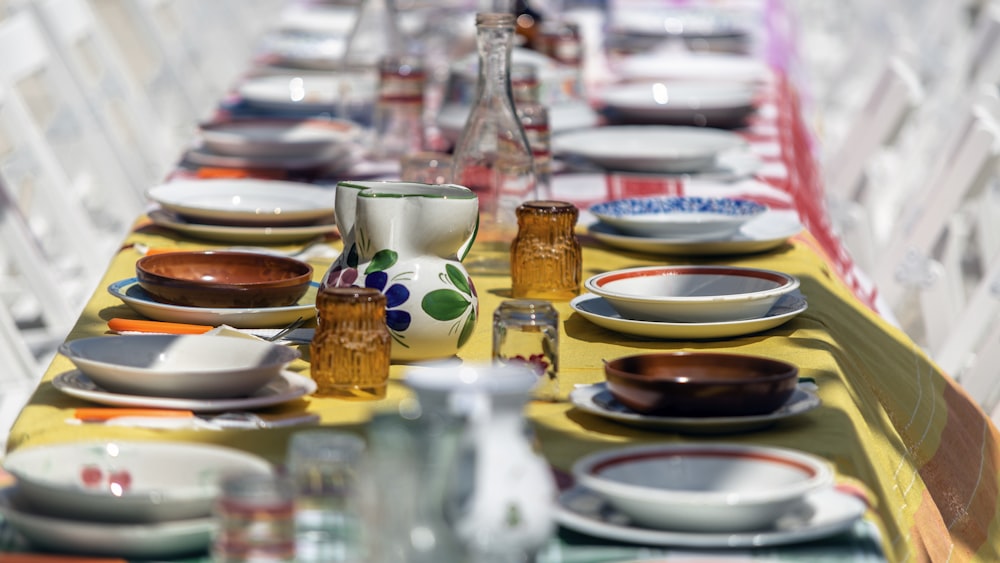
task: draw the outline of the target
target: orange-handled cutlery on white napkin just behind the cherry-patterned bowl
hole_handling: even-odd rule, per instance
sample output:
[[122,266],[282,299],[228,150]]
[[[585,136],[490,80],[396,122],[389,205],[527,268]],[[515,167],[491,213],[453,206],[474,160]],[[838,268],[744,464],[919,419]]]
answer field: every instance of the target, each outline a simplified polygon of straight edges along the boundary
[[300,424],[316,424],[319,422],[319,418],[318,414],[301,412],[277,415],[257,414],[248,411],[198,414],[189,410],[175,409],[86,407],[76,409],[71,421],[73,424],[222,430],[225,428],[284,428]]

